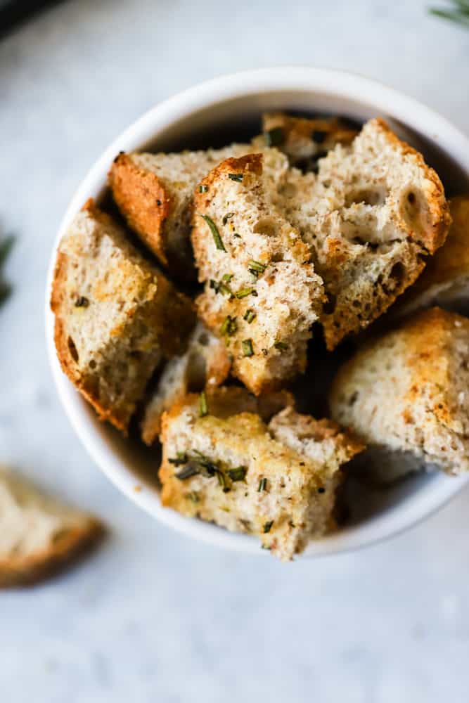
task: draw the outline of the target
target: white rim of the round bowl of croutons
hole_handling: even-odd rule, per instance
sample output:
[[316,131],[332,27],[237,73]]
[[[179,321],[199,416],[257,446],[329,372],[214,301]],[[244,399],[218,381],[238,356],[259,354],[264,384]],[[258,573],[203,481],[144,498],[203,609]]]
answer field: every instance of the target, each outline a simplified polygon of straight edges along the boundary
[[[421,134],[451,155],[465,173],[469,173],[469,139],[449,120],[410,96],[375,79],[352,72],[307,66],[262,68],[223,75],[197,84],[177,93],[150,108],[105,148],[89,169],[68,205],[53,244],[46,280],[46,345],[53,379],[60,401],[80,441],[103,473],[122,493],[157,520],[176,531],[188,534],[205,543],[244,553],[265,554],[252,537],[236,534],[216,525],[184,517],[174,510],[163,508],[158,491],[145,484],[113,450],[113,439],[105,432],[97,417],[89,411],[85,401],[63,374],[53,341],[53,314],[49,306],[56,251],[72,217],[89,197],[98,198],[105,186],[110,162],[123,150],[142,148],[160,131],[188,117],[191,113],[233,98],[259,93],[314,93],[360,101],[368,104],[376,114],[383,114],[418,129]],[[302,557],[313,557],[356,550],[385,538],[397,535],[441,508],[469,482],[469,475],[461,477],[432,477],[424,489],[401,501],[385,512],[313,541]],[[139,490],[136,491],[136,484]]]

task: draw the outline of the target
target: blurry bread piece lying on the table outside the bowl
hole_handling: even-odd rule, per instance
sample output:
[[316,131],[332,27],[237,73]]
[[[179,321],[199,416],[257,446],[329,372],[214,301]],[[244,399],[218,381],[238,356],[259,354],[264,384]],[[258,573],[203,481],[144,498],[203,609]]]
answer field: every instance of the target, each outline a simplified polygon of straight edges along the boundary
[[101,522],[0,467],[0,588],[48,578],[92,548]]

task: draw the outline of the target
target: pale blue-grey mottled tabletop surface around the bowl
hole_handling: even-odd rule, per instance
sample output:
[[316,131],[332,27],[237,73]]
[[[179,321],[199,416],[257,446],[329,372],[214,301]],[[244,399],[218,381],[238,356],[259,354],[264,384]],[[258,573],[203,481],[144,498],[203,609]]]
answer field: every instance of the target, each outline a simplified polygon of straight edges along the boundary
[[113,530],[74,572],[0,595],[2,703],[468,701],[467,491],[359,553],[285,566],[203,546],[91,463],[44,349],[44,278],[68,200],[103,147],[172,93],[243,68],[328,65],[469,131],[469,32],[426,5],[71,1],[0,42],[0,226],[19,238],[0,311],[0,460]]

